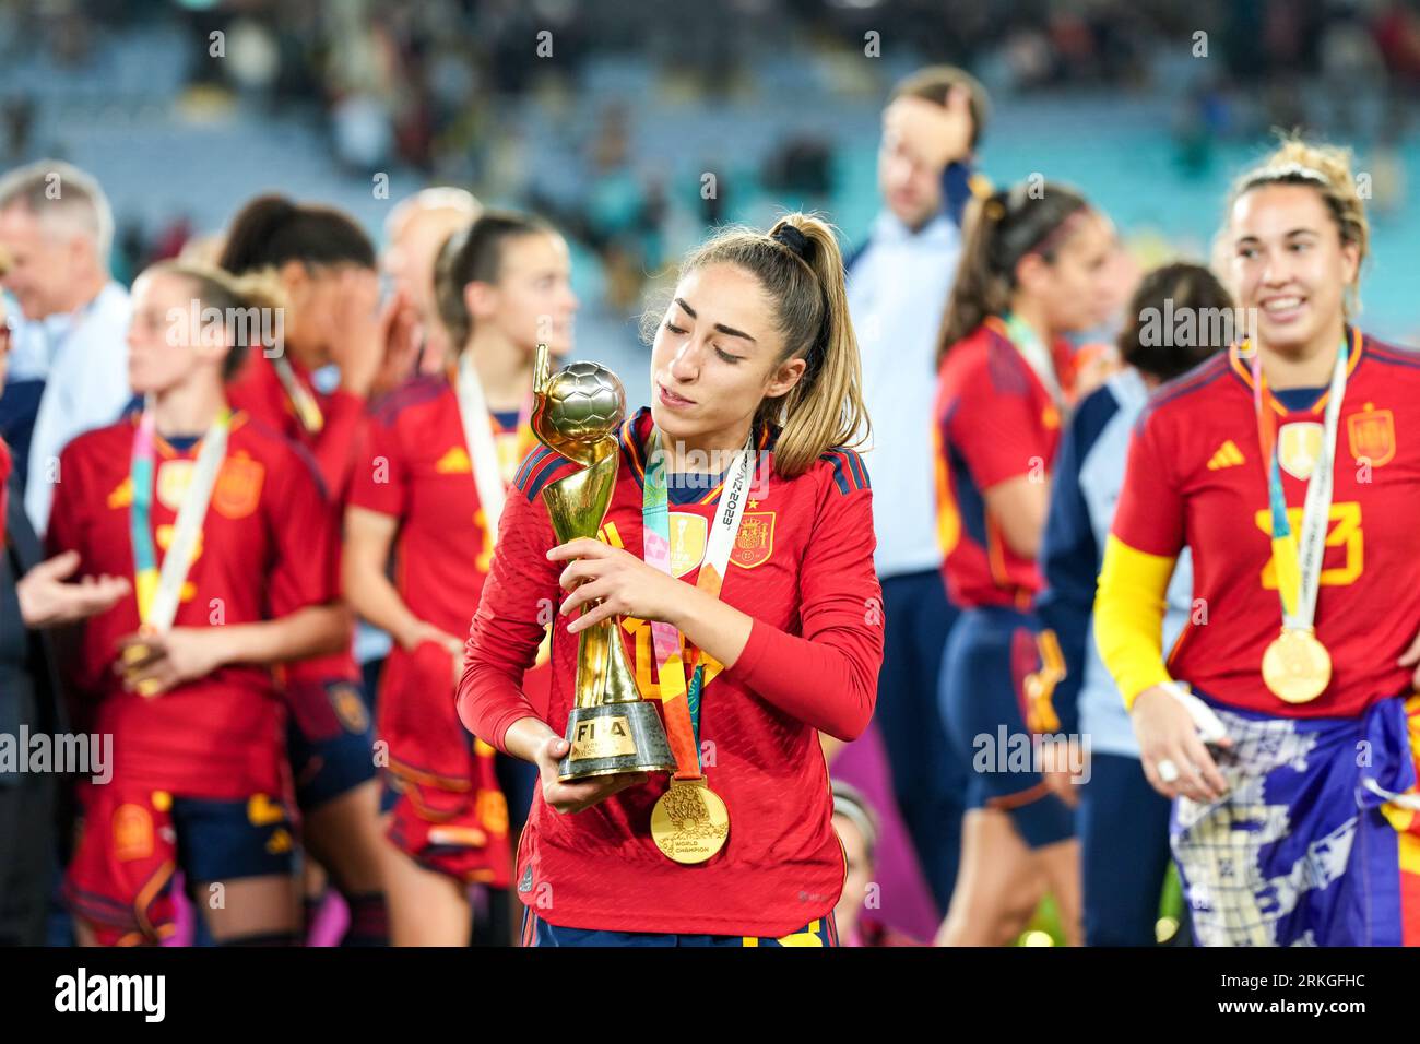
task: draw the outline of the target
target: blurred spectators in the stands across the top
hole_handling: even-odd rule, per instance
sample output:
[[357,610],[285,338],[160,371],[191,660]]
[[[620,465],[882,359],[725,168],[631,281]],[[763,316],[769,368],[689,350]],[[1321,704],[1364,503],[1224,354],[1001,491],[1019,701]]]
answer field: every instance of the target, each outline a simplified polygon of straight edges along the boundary
[[[767,70],[784,62],[802,64],[802,80],[821,81],[815,65],[838,70],[835,58],[875,45],[890,60],[910,40],[914,57],[971,68],[998,101],[1068,89],[1170,95],[1176,163],[1186,175],[1211,169],[1220,142],[1271,126],[1367,139],[1377,196],[1384,185],[1403,183],[1396,146],[1420,91],[1420,13],[1403,0],[741,0],[728,10],[674,11],[649,0],[7,1],[0,55],[47,53],[58,70],[82,70],[106,37],[153,24],[189,40],[186,57],[175,58],[189,95],[234,99],[273,118],[308,114],[338,170],[369,178],[408,168],[555,216],[599,260],[605,301],[619,314],[638,305],[645,280],[666,260],[667,240],[693,237],[677,230],[677,217],[706,227],[741,216],[744,190],[738,199],[724,185],[673,193],[666,161],[646,156],[623,101],[598,102],[586,118],[577,99],[612,61],[648,65],[655,75],[648,82],[663,95],[655,101],[694,99],[707,109],[767,99],[775,82]],[[217,37],[224,61],[202,60]],[[1198,57],[1218,60],[1191,61]],[[834,92],[873,97],[880,80],[845,78]],[[20,89],[0,107],[9,159],[53,152],[36,141],[44,84],[13,87]],[[559,149],[578,162],[574,182],[534,165],[518,118],[524,99],[562,114],[554,126],[567,136]],[[750,168],[750,182],[778,197],[828,206],[842,189],[845,151],[842,141],[787,134],[755,162],[714,159]],[[175,256],[202,232],[180,213],[155,226],[121,212],[118,226],[119,273]]]

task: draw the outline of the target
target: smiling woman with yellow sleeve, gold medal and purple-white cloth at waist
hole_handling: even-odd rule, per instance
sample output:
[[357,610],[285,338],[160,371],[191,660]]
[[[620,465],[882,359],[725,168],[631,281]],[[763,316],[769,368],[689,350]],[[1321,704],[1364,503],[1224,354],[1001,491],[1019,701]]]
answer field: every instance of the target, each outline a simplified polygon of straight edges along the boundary
[[[1198,942],[1416,945],[1420,357],[1349,322],[1369,226],[1345,152],[1284,142],[1220,243],[1252,339],[1140,419],[1095,636],[1177,798]],[[1166,663],[1183,547],[1193,615]]]

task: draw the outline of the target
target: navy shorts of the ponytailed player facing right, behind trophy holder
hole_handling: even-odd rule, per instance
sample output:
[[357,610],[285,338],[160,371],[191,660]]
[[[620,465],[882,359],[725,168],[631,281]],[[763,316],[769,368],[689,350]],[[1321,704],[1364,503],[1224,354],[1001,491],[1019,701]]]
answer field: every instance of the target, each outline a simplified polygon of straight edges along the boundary
[[[1028,614],[1005,607],[966,609],[941,662],[941,714],[957,757],[967,766],[967,808],[1010,814],[1031,848],[1075,835],[1075,812],[1045,785],[1030,751],[1017,695],[1018,652],[1032,652]],[[1020,754],[1025,751],[1027,757]]]

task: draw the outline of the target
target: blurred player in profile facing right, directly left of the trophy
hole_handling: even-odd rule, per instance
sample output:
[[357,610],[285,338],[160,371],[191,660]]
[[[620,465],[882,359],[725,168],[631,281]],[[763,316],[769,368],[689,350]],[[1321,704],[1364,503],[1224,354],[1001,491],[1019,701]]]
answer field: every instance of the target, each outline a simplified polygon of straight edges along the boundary
[[388,874],[393,939],[467,946],[469,885],[507,888],[511,862],[494,749],[469,736],[454,707],[457,635],[488,571],[507,483],[534,445],[537,344],[571,351],[578,303],[565,240],[508,212],[454,233],[436,280],[460,351],[376,409],[346,513],[345,591],[395,639],[378,730],[399,848]]

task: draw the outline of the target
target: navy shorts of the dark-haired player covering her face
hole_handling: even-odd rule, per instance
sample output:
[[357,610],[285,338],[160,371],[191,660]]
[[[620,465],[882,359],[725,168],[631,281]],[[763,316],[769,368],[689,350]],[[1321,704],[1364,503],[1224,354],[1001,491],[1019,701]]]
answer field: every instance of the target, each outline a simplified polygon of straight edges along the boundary
[[359,685],[346,679],[304,682],[288,689],[285,747],[295,777],[295,804],[320,808],[375,778],[375,730]]

